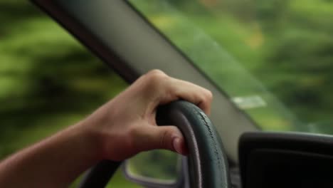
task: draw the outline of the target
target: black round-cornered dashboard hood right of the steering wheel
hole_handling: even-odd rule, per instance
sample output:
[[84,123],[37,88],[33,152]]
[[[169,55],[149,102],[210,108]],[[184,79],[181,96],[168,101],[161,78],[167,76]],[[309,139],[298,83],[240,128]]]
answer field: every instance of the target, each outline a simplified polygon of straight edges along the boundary
[[250,132],[240,137],[243,188],[333,187],[333,137]]

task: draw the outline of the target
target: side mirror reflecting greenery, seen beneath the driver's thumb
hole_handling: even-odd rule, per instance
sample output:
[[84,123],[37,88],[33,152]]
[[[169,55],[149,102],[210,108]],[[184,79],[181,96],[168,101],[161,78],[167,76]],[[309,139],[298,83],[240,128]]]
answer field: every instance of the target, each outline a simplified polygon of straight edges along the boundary
[[181,157],[168,150],[141,152],[125,162],[125,175],[137,183],[177,184],[181,177]]

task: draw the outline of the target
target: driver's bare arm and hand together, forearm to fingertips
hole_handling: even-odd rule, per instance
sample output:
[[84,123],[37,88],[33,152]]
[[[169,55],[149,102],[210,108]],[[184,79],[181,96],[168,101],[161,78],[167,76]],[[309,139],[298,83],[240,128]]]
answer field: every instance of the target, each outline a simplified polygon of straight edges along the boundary
[[210,113],[209,90],[150,71],[84,120],[2,161],[0,187],[68,187],[100,160],[125,160],[147,150],[186,155],[181,132],[155,122],[157,106],[179,99]]

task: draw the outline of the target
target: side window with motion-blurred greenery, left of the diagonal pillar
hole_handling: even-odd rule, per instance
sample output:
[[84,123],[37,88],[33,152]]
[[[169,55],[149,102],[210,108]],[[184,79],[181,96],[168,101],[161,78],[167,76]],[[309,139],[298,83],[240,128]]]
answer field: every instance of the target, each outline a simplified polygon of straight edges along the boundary
[[[73,125],[127,86],[28,1],[1,1],[0,25],[0,160]],[[120,171],[110,184],[139,187]]]

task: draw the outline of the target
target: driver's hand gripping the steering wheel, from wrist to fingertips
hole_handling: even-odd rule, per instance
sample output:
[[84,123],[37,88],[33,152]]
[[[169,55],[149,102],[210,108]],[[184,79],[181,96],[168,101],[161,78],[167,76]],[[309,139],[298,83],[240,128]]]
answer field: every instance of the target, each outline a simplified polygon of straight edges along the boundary
[[210,113],[212,94],[209,90],[171,78],[162,71],[150,71],[79,126],[88,127],[97,137],[102,159],[125,160],[153,149],[186,155],[184,137],[178,128],[158,127],[155,122],[157,106],[179,99],[188,100]]

